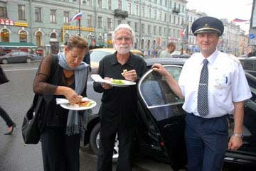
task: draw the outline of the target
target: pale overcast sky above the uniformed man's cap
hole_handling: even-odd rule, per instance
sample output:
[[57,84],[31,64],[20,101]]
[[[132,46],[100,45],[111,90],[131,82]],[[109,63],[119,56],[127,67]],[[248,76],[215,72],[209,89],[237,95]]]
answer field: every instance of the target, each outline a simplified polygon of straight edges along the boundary
[[[187,9],[196,9],[216,18],[250,20],[253,0],[187,0]],[[250,23],[237,23],[242,30],[249,32]]]

